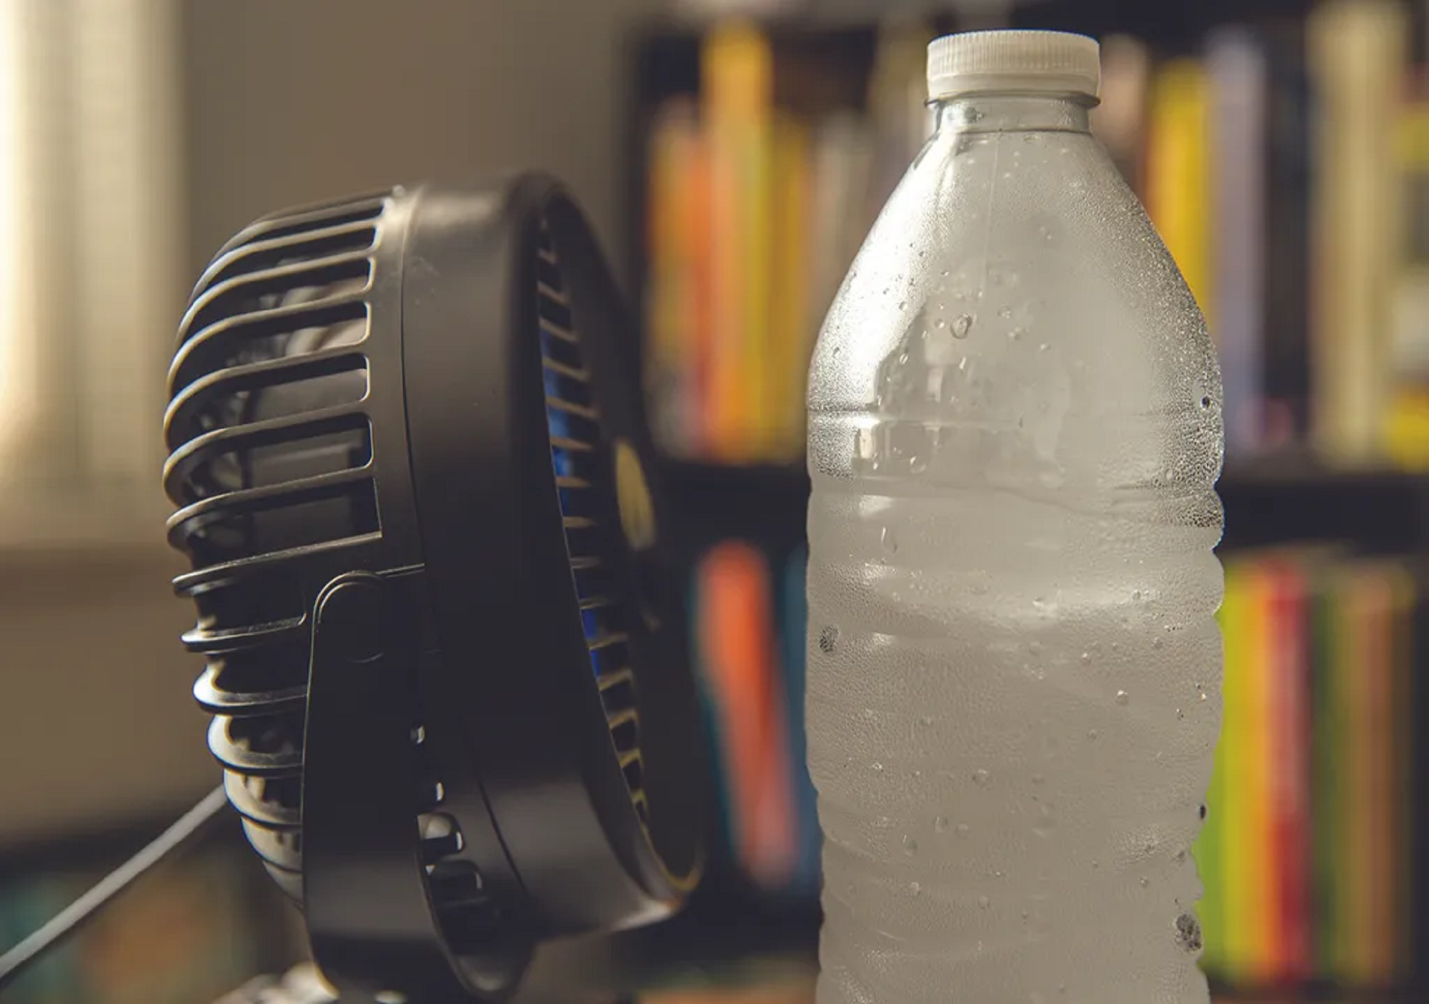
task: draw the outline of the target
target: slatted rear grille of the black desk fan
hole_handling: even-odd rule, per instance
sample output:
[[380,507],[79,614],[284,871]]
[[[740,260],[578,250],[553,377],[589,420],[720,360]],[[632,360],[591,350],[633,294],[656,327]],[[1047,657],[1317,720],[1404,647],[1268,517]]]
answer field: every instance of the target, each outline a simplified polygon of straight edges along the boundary
[[[382,540],[367,341],[390,193],[267,217],[199,278],[179,328],[164,416],[169,538],[193,570],[174,587],[199,623],[194,684],[229,800],[279,885],[302,898],[309,593],[322,570],[367,567]],[[423,854],[443,905],[476,895],[440,783],[417,781]],[[450,874],[447,874],[450,873]]]

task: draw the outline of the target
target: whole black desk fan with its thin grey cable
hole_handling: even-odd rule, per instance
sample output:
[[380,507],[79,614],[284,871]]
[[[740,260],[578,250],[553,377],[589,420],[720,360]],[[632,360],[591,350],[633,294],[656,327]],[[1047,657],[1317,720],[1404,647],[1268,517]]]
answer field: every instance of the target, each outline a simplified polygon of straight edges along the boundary
[[164,416],[194,694],[343,1001],[502,1000],[536,944],[660,920],[697,880],[636,374],[540,176],[269,216],[194,287]]

